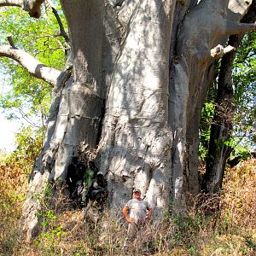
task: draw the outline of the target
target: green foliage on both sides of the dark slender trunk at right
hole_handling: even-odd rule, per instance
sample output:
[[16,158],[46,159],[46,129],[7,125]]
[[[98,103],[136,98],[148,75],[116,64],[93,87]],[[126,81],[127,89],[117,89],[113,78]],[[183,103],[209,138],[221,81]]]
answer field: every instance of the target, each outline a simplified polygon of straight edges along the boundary
[[[245,156],[256,143],[256,32],[249,32],[243,38],[237,49],[236,60],[233,63],[234,109],[233,132],[224,145],[234,148],[231,158],[237,155]],[[206,159],[210,139],[210,128],[214,115],[216,98],[216,82],[214,82],[201,110],[199,154],[202,161]]]

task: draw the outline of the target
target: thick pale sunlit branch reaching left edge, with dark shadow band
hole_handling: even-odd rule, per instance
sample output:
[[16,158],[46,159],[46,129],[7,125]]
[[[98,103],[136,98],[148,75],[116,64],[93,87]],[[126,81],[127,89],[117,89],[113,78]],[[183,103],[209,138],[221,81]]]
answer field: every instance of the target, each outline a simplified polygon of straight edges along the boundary
[[56,85],[57,79],[61,74],[61,71],[47,67],[32,55],[9,45],[0,46],[0,57],[8,57],[19,62],[34,78],[42,79],[53,87]]

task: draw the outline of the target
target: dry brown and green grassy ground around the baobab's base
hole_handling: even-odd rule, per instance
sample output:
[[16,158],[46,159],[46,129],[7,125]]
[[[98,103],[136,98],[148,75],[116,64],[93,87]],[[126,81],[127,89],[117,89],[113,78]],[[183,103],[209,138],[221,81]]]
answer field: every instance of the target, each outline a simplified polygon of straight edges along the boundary
[[125,252],[120,209],[115,218],[108,211],[98,216],[90,209],[84,217],[81,210],[45,209],[41,235],[32,243],[20,240],[27,174],[3,163],[0,172],[0,255],[256,255],[256,160],[227,169],[220,209],[212,217],[198,207],[166,212]]

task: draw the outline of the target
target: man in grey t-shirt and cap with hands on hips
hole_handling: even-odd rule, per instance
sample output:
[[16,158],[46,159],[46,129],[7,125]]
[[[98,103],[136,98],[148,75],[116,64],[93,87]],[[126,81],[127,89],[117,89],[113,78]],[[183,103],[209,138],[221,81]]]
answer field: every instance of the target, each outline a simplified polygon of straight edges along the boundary
[[143,201],[141,195],[140,189],[134,189],[133,199],[128,201],[123,208],[125,220],[129,223],[124,248],[131,245],[136,236],[149,223],[153,214],[152,207],[148,201]]

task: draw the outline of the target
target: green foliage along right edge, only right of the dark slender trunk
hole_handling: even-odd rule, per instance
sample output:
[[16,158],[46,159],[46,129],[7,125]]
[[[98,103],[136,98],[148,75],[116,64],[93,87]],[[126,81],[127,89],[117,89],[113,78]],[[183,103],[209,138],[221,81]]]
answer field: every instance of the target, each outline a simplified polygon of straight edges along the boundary
[[[248,33],[237,49],[234,61],[234,136],[241,142],[256,143],[256,32]],[[247,138],[244,141],[242,138]]]

